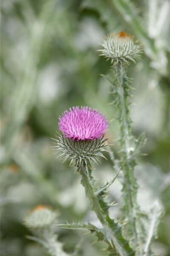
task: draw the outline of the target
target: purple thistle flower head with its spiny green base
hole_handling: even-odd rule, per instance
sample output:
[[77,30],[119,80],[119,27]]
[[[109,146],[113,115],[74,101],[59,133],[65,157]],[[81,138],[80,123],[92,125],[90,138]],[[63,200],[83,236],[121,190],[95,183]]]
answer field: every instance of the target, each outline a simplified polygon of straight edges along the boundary
[[96,109],[76,107],[65,111],[59,116],[59,129],[62,134],[57,136],[54,149],[60,153],[64,161],[71,158],[78,165],[82,161],[87,164],[99,161],[106,151],[104,138],[108,127],[106,117]]

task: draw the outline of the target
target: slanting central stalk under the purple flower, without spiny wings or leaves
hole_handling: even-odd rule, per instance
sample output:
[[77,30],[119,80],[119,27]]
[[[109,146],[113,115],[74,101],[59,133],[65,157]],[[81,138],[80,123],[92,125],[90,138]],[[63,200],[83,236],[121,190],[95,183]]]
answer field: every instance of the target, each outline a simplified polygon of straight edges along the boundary
[[[91,207],[96,213],[99,221],[102,224],[102,228],[105,233],[105,237],[111,246],[116,248],[116,251],[120,256],[127,256],[128,253],[122,246],[121,242],[116,238],[115,233],[113,232],[111,225],[108,222],[108,215],[102,210],[99,199],[96,196],[96,189],[94,188],[94,180],[91,177],[90,166],[86,166],[85,163],[79,165],[79,173],[82,175],[82,185],[85,187],[86,195],[91,203]],[[112,244],[113,243],[113,244]]]

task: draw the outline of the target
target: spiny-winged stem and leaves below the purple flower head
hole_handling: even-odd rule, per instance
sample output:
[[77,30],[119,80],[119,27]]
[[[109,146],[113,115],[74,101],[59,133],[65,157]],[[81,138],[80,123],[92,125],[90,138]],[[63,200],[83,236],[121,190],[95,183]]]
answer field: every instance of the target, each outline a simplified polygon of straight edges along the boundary
[[85,194],[89,199],[91,209],[96,213],[102,227],[95,227],[90,223],[87,225],[79,223],[61,224],[57,226],[71,229],[86,228],[91,230],[91,232],[95,232],[96,236],[98,236],[98,240],[103,240],[109,244],[108,253],[110,256],[134,255],[134,251],[129,247],[128,242],[122,236],[121,224],[109,217],[108,209],[110,205],[104,200],[105,196],[107,195],[105,190],[111,185],[111,183],[113,183],[118,173],[110,183],[107,183],[103,187],[96,188],[95,180],[92,176],[92,166],[90,162],[87,162],[86,164],[85,161],[82,160],[82,162],[78,165],[77,172],[82,177],[81,183],[82,186],[85,187]]

